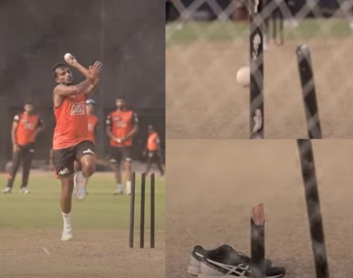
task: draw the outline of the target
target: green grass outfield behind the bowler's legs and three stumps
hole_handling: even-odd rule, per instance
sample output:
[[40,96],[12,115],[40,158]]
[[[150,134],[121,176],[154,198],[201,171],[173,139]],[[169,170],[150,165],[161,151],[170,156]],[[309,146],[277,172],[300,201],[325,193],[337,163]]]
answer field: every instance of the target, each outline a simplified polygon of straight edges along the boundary
[[[140,221],[140,175],[136,183],[136,229]],[[0,229],[62,228],[59,207],[60,183],[52,173],[31,173],[30,195],[18,193],[20,177],[16,178],[13,192],[0,195]],[[89,181],[88,197],[73,200],[72,221],[75,229],[128,229],[129,202],[126,195],[115,196],[113,173],[95,173]],[[6,175],[0,175],[0,185],[6,185]],[[150,186],[146,182],[145,228],[149,227]],[[164,231],[165,178],[155,178],[156,229]]]

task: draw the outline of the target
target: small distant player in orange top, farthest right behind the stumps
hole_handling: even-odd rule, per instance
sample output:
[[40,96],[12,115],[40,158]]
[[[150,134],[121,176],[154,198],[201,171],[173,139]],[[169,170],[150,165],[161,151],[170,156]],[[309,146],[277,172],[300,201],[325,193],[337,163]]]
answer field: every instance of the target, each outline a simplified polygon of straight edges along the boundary
[[152,124],[148,125],[148,139],[146,148],[143,151],[143,156],[148,155],[147,158],[147,168],[145,170],[146,175],[150,172],[152,163],[156,163],[158,170],[160,170],[160,175],[164,175],[164,170],[162,168],[162,149],[160,147],[160,137],[158,136],[155,129],[153,129]]

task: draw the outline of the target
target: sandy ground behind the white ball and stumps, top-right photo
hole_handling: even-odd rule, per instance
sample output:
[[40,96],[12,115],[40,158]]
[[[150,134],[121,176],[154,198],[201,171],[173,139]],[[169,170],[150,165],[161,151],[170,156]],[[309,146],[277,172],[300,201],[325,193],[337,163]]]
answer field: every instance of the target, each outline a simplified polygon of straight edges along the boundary
[[[295,50],[311,47],[325,138],[352,138],[352,38],[288,40],[265,52],[265,138],[306,138]],[[197,40],[166,50],[167,137],[249,138],[249,88],[236,73],[249,64],[249,45]]]

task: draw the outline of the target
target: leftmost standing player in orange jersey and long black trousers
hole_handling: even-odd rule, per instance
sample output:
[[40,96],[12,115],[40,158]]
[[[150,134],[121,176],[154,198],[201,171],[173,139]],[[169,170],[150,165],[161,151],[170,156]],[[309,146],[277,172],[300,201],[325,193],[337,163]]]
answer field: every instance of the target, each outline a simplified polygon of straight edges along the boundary
[[20,193],[29,194],[28,177],[33,154],[35,153],[35,139],[37,134],[44,129],[40,117],[34,113],[32,102],[26,101],[23,105],[23,112],[13,117],[11,139],[13,146],[12,166],[8,173],[8,182],[2,193],[11,193],[13,181],[22,161],[22,184]]

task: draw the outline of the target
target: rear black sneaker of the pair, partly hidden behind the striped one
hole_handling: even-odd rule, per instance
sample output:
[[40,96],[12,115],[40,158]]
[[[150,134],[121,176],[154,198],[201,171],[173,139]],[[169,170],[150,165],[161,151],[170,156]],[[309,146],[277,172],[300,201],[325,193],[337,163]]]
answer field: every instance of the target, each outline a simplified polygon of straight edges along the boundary
[[[190,262],[188,267],[188,273],[191,275],[198,275],[200,273],[201,260],[210,259],[215,262],[220,262],[225,265],[237,265],[237,264],[251,264],[251,259],[244,253],[241,253],[232,246],[221,245],[214,250],[205,250],[202,246],[196,245],[193,248],[193,252],[190,256]],[[265,259],[265,268],[267,269],[272,265],[272,262]]]

